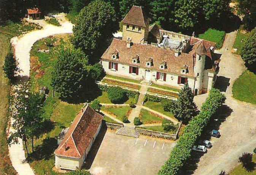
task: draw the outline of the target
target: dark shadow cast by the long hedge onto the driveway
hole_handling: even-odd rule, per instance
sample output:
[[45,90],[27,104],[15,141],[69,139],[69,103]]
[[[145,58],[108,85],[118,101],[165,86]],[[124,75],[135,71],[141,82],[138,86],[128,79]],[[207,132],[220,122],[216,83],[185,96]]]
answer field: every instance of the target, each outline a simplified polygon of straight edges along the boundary
[[[207,127],[205,127],[205,129],[203,131],[203,134],[199,137],[198,140],[211,140],[211,136],[210,136],[211,130],[213,130],[213,129],[219,130],[219,127],[220,127],[221,123],[226,121],[226,118],[228,116],[230,116],[232,114],[232,112],[233,112],[233,110],[227,105],[223,105],[223,106],[219,107],[219,109],[216,112],[216,115],[211,118],[209,124],[207,125]],[[192,175],[192,174],[194,174],[194,171],[198,167],[198,163],[200,161],[200,158],[203,155],[204,155],[204,153],[200,153],[200,152],[197,152],[197,151],[192,151],[191,159],[189,159],[187,164],[185,164],[183,166],[183,168],[181,169],[181,172],[179,174],[180,175],[184,175],[184,174]]]

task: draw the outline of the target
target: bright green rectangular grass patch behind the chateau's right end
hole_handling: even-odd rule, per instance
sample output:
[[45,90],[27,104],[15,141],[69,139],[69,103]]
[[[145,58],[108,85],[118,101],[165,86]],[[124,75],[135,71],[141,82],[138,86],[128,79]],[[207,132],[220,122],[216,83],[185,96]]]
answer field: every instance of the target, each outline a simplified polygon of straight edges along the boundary
[[199,38],[216,43],[216,48],[220,49],[223,45],[225,35],[225,31],[219,31],[209,28],[205,33],[200,34]]

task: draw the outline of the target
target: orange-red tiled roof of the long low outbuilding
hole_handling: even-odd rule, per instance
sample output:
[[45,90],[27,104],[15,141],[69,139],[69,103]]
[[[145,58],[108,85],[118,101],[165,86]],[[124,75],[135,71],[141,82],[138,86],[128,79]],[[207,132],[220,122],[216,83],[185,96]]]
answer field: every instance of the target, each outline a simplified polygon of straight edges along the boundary
[[69,158],[83,157],[103,117],[89,105],[80,111],[54,154]]

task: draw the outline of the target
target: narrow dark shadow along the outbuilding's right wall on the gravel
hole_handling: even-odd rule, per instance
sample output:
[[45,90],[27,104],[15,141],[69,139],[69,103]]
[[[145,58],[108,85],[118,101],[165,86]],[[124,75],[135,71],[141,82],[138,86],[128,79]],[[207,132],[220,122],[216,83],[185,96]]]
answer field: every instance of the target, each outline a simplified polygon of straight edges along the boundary
[[104,136],[107,132],[107,125],[105,121],[102,121],[102,128],[100,129],[100,132],[98,136],[96,137],[94,143],[92,144],[91,150],[89,151],[86,159],[85,164],[83,165],[83,169],[89,170],[92,166],[92,162],[95,159],[95,156],[97,155],[97,152],[100,148],[100,145],[102,143],[102,140],[104,139]]

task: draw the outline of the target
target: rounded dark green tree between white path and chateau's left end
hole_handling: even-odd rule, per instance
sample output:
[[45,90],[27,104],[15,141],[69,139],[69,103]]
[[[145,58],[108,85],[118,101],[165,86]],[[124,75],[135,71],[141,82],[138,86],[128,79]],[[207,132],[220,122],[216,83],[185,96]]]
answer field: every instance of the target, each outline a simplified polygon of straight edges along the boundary
[[61,98],[78,98],[90,84],[87,56],[72,44],[60,44],[54,51],[58,60],[53,66],[52,87]]

